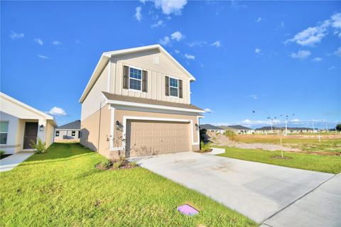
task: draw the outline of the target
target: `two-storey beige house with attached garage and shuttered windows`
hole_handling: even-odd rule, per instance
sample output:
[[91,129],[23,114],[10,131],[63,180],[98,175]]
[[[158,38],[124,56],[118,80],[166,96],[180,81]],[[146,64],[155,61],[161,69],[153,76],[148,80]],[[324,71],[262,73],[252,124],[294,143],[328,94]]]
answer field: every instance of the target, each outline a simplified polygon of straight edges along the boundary
[[80,98],[80,143],[106,157],[199,150],[193,81],[161,45],[104,52]]

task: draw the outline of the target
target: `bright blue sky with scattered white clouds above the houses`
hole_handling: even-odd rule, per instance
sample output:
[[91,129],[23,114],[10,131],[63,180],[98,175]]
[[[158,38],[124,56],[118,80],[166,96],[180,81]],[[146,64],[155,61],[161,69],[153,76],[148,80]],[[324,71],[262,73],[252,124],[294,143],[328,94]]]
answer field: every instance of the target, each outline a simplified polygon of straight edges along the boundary
[[341,120],[340,1],[1,1],[1,92],[74,121],[102,52],[155,43],[196,77],[202,123]]

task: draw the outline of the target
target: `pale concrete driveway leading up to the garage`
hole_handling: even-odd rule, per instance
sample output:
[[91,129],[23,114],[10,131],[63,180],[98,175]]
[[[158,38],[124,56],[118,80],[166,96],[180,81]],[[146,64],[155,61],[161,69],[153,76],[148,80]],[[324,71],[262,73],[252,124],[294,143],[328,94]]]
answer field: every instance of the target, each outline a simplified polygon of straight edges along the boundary
[[[141,167],[195,189],[259,223],[270,217],[274,220],[294,201],[301,200],[335,176],[189,152],[139,157],[135,160]],[[340,196],[338,199],[340,201]],[[323,201],[316,201],[314,205],[321,206],[320,202]],[[336,208],[340,210],[340,206]],[[323,209],[328,207],[324,206]],[[336,221],[340,221],[340,218],[336,218]],[[281,221],[278,223],[279,226],[286,226]]]

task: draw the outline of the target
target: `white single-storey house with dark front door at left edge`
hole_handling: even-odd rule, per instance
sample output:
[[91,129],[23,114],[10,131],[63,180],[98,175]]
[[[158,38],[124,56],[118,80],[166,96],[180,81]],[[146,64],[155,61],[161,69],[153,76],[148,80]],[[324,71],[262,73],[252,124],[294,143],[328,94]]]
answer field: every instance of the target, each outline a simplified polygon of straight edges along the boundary
[[53,143],[55,120],[21,101],[0,92],[0,150],[8,154],[32,150],[40,138],[46,147]]

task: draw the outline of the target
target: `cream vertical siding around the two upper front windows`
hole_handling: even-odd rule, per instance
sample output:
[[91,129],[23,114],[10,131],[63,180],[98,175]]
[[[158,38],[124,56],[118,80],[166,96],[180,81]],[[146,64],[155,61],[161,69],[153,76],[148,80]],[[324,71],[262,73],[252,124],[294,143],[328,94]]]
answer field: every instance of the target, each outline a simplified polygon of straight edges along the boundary
[[[158,57],[159,64],[155,63]],[[171,60],[158,50],[127,54],[112,57],[112,81],[110,93],[135,96],[145,99],[156,99],[183,104],[190,104],[190,80]],[[148,92],[135,92],[123,89],[123,66],[138,67],[148,72]],[[165,77],[175,77],[183,80],[183,99],[166,96]]]

